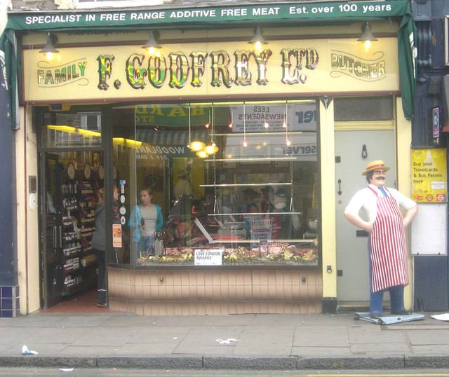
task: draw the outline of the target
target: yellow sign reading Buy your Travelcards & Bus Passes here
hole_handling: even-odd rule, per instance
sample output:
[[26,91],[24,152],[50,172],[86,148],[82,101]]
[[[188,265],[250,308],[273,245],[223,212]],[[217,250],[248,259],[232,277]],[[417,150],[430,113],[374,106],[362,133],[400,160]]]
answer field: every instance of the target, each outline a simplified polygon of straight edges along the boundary
[[412,199],[417,203],[445,203],[446,150],[412,150]]

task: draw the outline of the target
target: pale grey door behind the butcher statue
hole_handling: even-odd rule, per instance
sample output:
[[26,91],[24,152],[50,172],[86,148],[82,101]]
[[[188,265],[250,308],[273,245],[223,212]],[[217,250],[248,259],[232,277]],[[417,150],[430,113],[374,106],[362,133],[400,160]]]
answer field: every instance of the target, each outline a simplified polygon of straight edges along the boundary
[[[387,187],[396,188],[393,130],[335,132],[335,191],[337,231],[337,301],[369,301],[368,237],[344,219],[343,211],[354,193],[368,185],[362,175],[366,164],[384,160],[390,167]],[[338,162],[340,160],[340,162]],[[364,233],[361,234],[361,233]],[[385,297],[387,298],[387,296]]]

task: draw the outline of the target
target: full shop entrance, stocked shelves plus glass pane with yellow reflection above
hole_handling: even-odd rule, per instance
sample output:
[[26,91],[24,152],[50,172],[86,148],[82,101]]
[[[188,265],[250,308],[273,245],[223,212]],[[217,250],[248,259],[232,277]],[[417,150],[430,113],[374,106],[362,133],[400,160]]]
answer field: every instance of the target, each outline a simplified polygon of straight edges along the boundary
[[36,111],[39,147],[41,308],[93,290],[91,247],[98,190],[105,186],[100,111]]

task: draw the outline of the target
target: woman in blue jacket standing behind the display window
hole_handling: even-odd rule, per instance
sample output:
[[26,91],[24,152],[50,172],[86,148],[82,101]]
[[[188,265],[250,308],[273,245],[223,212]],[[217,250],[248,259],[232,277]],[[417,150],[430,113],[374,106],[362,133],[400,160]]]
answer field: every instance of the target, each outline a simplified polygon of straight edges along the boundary
[[153,191],[146,187],[140,190],[140,205],[136,205],[129,217],[132,231],[133,259],[137,261],[140,252],[153,254],[154,233],[163,226],[161,207],[152,203]]

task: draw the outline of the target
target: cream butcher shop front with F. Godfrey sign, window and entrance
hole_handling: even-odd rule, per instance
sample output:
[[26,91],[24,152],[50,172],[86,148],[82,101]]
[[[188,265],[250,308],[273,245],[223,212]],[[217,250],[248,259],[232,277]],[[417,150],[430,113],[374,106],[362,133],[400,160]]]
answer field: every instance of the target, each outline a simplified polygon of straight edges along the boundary
[[[21,39],[13,125],[39,180],[39,216],[29,217],[43,267],[28,287],[39,305],[95,286],[91,237],[103,190],[110,309],[335,312],[335,134],[380,131],[391,164],[407,160],[394,153],[395,132],[410,137],[399,85],[407,57],[401,27],[389,21],[407,13],[399,3],[190,10],[192,25],[220,17],[213,29],[177,25],[185,9],[21,15],[34,29]],[[297,20],[320,12],[321,23]],[[226,27],[237,13],[248,20]],[[136,27],[124,29],[125,20]],[[370,48],[357,40],[366,20],[379,36]],[[41,51],[49,40],[52,60]]]

